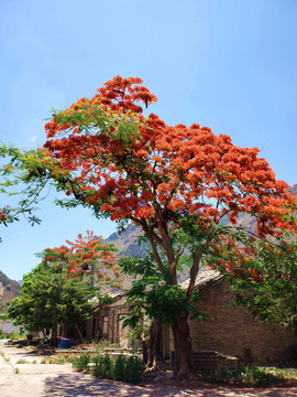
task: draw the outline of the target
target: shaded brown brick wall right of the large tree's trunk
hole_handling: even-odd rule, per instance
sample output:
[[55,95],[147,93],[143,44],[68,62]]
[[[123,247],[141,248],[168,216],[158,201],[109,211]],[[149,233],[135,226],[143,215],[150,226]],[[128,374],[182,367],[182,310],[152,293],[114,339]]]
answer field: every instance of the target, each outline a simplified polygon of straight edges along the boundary
[[232,305],[230,285],[220,279],[201,291],[199,309],[211,319],[190,321],[194,351],[215,350],[245,362],[277,362],[289,346],[297,345],[292,329],[272,326],[253,319],[246,308]]

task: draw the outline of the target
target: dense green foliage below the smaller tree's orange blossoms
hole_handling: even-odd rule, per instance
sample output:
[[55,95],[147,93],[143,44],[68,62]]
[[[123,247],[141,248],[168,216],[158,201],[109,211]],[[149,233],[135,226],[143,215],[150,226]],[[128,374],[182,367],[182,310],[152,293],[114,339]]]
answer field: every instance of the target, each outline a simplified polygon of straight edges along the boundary
[[8,315],[30,332],[61,323],[82,325],[90,315],[94,294],[88,282],[42,264],[24,276],[21,297],[11,302]]

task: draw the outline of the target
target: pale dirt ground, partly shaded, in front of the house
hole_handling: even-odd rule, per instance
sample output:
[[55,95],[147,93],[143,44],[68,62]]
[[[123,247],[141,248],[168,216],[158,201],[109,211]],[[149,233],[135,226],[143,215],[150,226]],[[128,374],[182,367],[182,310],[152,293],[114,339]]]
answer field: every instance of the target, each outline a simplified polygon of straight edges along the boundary
[[[0,341],[1,397],[293,397],[297,387],[251,389],[202,383],[144,380],[141,385],[98,379],[73,369],[72,364],[42,364],[41,356],[26,347]],[[26,363],[22,363],[25,361]]]

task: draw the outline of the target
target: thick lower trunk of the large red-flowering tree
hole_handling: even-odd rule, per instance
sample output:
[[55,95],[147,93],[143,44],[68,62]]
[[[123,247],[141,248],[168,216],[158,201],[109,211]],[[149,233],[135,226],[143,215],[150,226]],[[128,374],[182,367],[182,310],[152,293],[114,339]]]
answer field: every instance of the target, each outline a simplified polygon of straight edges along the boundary
[[175,344],[174,371],[178,379],[190,378],[194,373],[188,314],[183,313],[172,325]]

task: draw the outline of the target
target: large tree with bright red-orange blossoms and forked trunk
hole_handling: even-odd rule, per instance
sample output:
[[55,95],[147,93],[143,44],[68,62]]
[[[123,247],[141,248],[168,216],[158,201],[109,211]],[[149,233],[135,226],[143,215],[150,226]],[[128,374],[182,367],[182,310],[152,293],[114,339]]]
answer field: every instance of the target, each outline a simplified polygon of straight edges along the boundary
[[[154,114],[144,117],[140,104],[156,97],[141,84],[139,77],[117,76],[91,99],[54,111],[45,126],[44,155],[61,173],[52,175],[57,187],[73,197],[61,205],[82,204],[98,217],[120,225],[130,219],[143,229],[166,285],[176,290],[173,307],[179,316],[170,326],[183,377],[193,369],[185,308],[202,256],[237,229],[242,212],[255,217],[256,238],[280,235],[284,228],[296,233],[296,196],[275,179],[257,148],[234,146],[230,137],[198,124],[173,127]],[[221,223],[223,217],[231,226]],[[185,247],[191,264],[183,294],[177,266]]]

